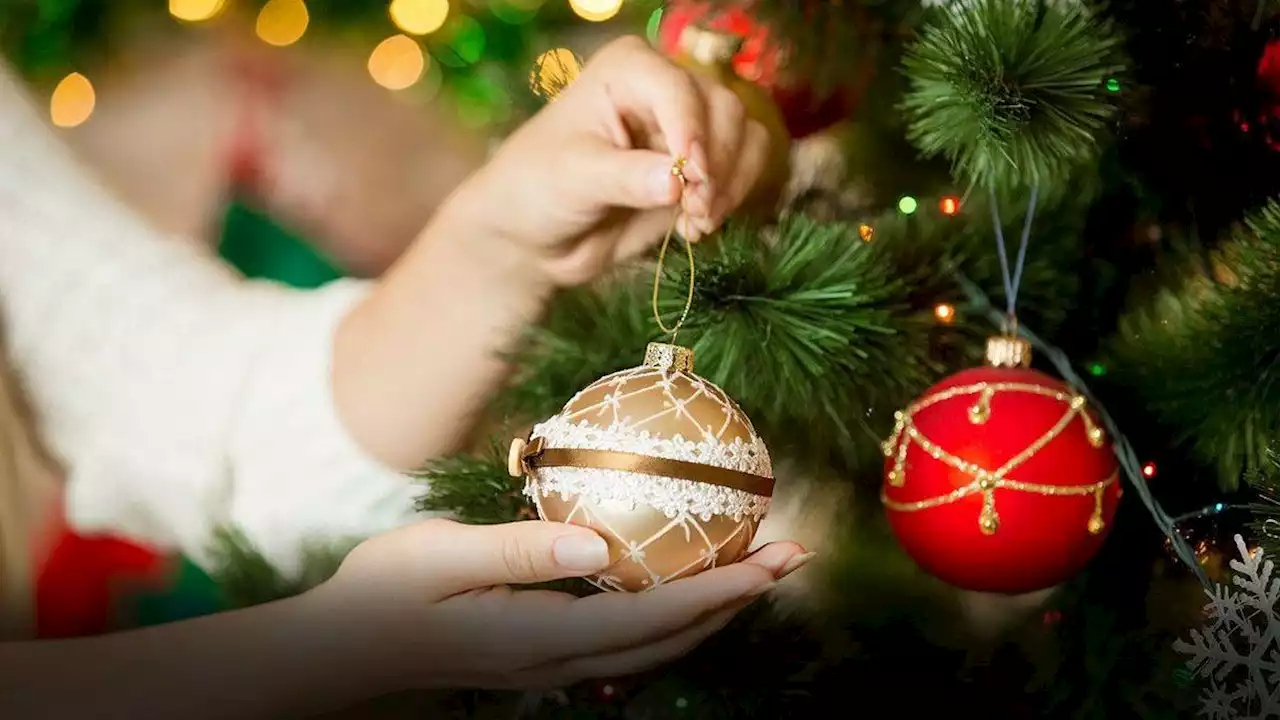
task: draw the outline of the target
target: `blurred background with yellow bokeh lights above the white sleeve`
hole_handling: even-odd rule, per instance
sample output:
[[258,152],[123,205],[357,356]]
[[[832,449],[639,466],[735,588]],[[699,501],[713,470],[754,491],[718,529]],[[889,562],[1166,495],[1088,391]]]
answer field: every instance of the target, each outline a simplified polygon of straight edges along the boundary
[[298,286],[384,269],[536,110],[539,82],[567,81],[658,13],[635,0],[5,5],[10,61],[122,199]]

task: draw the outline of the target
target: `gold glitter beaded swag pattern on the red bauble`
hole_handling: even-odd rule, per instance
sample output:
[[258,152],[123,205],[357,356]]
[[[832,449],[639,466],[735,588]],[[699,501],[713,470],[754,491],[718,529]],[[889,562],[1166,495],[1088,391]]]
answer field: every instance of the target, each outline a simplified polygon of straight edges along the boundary
[[[938,402],[955,397],[977,396],[974,404],[969,406],[969,421],[975,425],[982,425],[991,418],[991,400],[1001,392],[1025,392],[1052,397],[1060,402],[1066,402],[1068,410],[1062,415],[1062,419],[1050,428],[1047,433],[1041,436],[1036,442],[995,470],[983,468],[975,462],[969,462],[963,457],[957,457],[942,450],[942,447],[937,443],[924,437],[924,433],[922,433],[911,421],[911,418],[916,413],[932,405],[937,405]],[[1009,474],[1016,470],[1023,462],[1034,457],[1037,452],[1043,450],[1048,443],[1053,442],[1055,438],[1062,434],[1071,424],[1071,420],[1076,416],[1084,421],[1089,445],[1097,448],[1106,445],[1106,433],[1103,433],[1102,428],[1098,428],[1093,421],[1093,418],[1089,415],[1085,405],[1087,401],[1082,396],[1068,395],[1062,391],[1032,383],[975,383],[947,388],[927,396],[916,401],[905,411],[895,414],[896,421],[893,425],[893,434],[883,445],[884,456],[893,459],[893,469],[888,473],[888,484],[891,487],[902,487],[906,484],[906,452],[913,442],[919,445],[920,448],[928,452],[934,460],[938,460],[972,477],[973,482],[959,487],[947,495],[915,502],[899,502],[890,500],[887,491],[881,491],[881,502],[883,502],[890,510],[900,512],[918,512],[920,510],[929,510],[932,507],[941,507],[943,505],[956,502],[957,500],[970,495],[982,493],[982,511],[978,515],[978,527],[982,529],[983,534],[991,536],[1000,528],[1000,515],[996,512],[997,489],[1046,496],[1092,495],[1093,515],[1089,518],[1088,529],[1091,533],[1098,534],[1103,530],[1103,528],[1106,528],[1106,521],[1102,519],[1102,497],[1106,489],[1119,479],[1119,470],[1103,480],[1087,486],[1024,483],[1009,477]]]

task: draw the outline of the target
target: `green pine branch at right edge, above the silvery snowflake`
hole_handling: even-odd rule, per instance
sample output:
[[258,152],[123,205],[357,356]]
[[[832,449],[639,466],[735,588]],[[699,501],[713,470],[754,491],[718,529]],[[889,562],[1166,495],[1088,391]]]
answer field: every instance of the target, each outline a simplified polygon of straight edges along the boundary
[[1121,319],[1121,382],[1224,488],[1267,469],[1280,437],[1280,205],[1234,232],[1217,279],[1193,273]]

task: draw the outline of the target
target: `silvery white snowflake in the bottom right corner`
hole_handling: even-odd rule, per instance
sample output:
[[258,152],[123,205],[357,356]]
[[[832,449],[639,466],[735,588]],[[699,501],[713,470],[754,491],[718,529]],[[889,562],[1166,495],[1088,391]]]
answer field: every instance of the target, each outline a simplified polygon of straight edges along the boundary
[[1204,591],[1207,620],[1190,632],[1190,642],[1174,650],[1189,655],[1187,666],[1208,679],[1201,714],[1212,720],[1280,717],[1280,578],[1261,550],[1251,552],[1235,536],[1240,560],[1231,561],[1233,584]]

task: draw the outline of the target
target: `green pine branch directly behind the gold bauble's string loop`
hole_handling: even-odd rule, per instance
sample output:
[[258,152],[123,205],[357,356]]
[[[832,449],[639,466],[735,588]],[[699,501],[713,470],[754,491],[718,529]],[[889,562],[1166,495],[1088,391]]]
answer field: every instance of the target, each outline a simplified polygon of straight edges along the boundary
[[[678,341],[698,373],[751,418],[776,456],[813,469],[849,469],[878,452],[883,424],[940,369],[928,356],[929,309],[878,243],[855,227],[788,215],[774,228],[731,223],[699,243],[694,307]],[[667,256],[660,311],[684,307],[684,254]],[[652,275],[559,297],[512,357],[515,382],[497,402],[525,420],[557,413],[595,379],[635,366],[658,340]],[[678,288],[678,290],[677,290]]]

